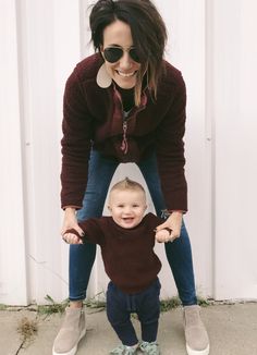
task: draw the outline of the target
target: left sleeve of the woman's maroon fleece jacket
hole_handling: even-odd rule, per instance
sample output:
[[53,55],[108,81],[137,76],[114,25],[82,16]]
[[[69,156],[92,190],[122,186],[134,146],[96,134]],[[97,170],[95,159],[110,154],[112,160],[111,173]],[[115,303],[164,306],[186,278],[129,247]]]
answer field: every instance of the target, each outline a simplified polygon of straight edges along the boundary
[[65,85],[62,131],[61,206],[81,208],[87,184],[91,118],[76,69]]

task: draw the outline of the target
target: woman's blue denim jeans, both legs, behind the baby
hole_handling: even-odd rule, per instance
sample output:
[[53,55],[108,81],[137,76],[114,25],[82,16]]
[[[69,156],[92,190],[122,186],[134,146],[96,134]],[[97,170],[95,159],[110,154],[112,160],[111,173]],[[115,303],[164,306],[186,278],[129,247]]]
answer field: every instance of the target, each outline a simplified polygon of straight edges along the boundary
[[[108,188],[118,166],[119,162],[114,159],[105,158],[96,150],[91,151],[83,207],[77,211],[78,221],[102,215]],[[161,210],[166,209],[166,204],[161,192],[156,155],[152,154],[138,162],[137,166],[146,181],[156,213],[161,216]],[[181,236],[172,243],[164,243],[164,247],[182,304],[184,306],[196,304],[191,243],[184,222]],[[86,243],[70,246],[71,301],[79,301],[86,297],[86,289],[95,257],[95,244]]]

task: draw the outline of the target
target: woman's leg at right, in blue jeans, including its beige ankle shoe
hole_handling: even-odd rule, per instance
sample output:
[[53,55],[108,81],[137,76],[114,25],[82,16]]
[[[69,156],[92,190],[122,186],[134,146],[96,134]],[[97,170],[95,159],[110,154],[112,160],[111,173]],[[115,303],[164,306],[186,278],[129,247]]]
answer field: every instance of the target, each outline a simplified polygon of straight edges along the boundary
[[[161,216],[161,210],[166,209],[166,204],[161,192],[156,156],[152,155],[142,161],[138,168],[145,178],[156,213]],[[182,224],[180,237],[172,243],[166,243],[166,254],[184,306],[187,354],[208,355],[209,339],[205,325],[200,319],[199,307],[196,305],[191,243],[184,223]]]

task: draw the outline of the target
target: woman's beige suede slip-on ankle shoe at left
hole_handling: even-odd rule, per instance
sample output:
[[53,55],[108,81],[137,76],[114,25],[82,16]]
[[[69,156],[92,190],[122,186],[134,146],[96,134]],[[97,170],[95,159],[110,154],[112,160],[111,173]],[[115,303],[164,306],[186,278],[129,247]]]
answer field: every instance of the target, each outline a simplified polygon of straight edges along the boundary
[[65,318],[54,340],[52,355],[75,355],[79,340],[86,334],[83,308],[65,309]]

